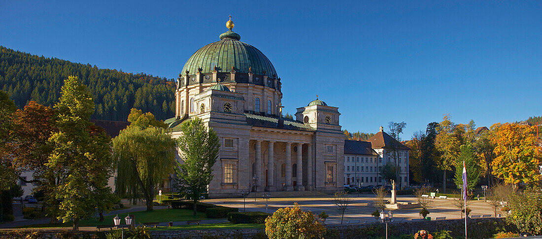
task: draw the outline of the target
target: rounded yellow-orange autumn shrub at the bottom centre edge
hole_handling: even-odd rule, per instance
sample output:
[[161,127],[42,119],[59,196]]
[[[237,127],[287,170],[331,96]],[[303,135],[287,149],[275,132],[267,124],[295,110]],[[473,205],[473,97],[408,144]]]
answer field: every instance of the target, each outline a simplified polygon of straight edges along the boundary
[[266,234],[274,238],[319,238],[326,232],[324,225],[311,211],[303,211],[297,203],[292,208],[276,210],[266,218]]

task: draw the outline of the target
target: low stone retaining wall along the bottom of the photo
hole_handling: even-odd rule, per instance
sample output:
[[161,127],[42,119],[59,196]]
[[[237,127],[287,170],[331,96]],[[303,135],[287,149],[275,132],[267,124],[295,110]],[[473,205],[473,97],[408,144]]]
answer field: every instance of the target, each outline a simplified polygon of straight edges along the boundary
[[[504,218],[477,218],[468,220],[469,238],[489,238],[496,233],[495,228],[505,227]],[[452,231],[452,235],[464,235],[464,220],[440,220],[420,222],[392,222],[388,223],[389,235],[410,234],[418,230],[428,230],[435,233],[440,230]],[[107,231],[80,231],[77,233],[81,239],[104,239]],[[27,237],[34,234],[33,237]],[[72,231],[59,230],[2,230],[0,239],[64,239],[70,238]],[[263,229],[208,229],[208,230],[163,230],[151,231],[153,239],[207,239],[207,238],[267,238]],[[385,236],[384,223],[363,223],[350,225],[329,225],[325,238],[367,238]]]

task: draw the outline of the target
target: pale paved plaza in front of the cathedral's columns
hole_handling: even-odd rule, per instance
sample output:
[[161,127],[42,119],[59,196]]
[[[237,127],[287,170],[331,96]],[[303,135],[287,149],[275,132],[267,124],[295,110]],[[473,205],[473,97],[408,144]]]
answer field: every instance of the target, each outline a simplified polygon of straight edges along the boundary
[[[249,195],[246,199],[247,211],[266,211],[266,200],[263,200],[261,193],[257,194],[260,197],[256,197],[254,201],[254,194]],[[272,195],[273,196],[273,195]],[[344,223],[348,220],[361,220],[361,221],[374,221],[375,217],[371,216],[371,213],[376,210],[373,206],[375,200],[372,194],[351,194],[352,203],[345,211]],[[416,198],[412,195],[398,196],[399,202],[416,202]],[[243,198],[228,198],[228,199],[210,199],[204,200],[204,202],[224,205],[227,207],[237,207],[243,211]],[[283,207],[291,207],[294,203],[298,203],[304,210],[310,210],[314,214],[320,214],[322,211],[326,211],[330,217],[327,218],[326,224],[338,224],[340,223],[340,212],[333,203],[332,196],[311,196],[311,197],[288,197],[288,198],[270,198],[268,203],[268,213],[273,213],[275,210]],[[433,203],[428,208],[430,216],[433,220],[435,217],[446,217],[446,219],[458,219],[461,218],[461,211],[457,209],[454,204],[454,199],[447,198],[435,198]],[[494,217],[494,209],[488,203],[482,199],[480,201],[469,201],[468,207],[472,209],[470,215],[487,215],[491,214]],[[404,218],[404,220],[411,220],[412,218],[421,218],[418,214],[420,208],[415,209],[398,209],[393,210],[394,218]],[[498,210],[497,214],[501,214]]]

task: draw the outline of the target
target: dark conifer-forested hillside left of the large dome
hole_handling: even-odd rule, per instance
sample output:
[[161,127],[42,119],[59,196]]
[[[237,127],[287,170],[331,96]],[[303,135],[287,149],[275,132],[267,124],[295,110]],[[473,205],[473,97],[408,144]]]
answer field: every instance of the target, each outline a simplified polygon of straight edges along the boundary
[[30,100],[53,106],[70,75],[79,77],[92,92],[96,104],[93,119],[126,121],[132,108],[152,112],[160,120],[175,114],[173,79],[99,69],[0,46],[0,90],[8,92],[18,108]]

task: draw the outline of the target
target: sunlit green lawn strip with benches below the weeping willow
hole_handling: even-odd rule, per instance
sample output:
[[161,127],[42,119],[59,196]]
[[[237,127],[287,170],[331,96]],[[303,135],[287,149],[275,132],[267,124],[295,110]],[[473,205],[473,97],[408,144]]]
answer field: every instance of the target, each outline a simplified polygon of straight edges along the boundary
[[[153,211],[136,211],[130,213],[130,215],[135,217],[135,225],[145,222],[178,222],[178,221],[188,221],[188,220],[205,220],[205,213],[197,213],[196,216],[193,216],[193,211],[190,209],[158,209]],[[124,218],[127,216],[127,213],[119,214],[121,218],[121,224],[125,224]],[[80,221],[79,227],[95,227],[96,225],[109,225],[113,224],[113,217],[117,215],[109,215],[104,217],[104,221],[98,221],[98,218],[93,218],[90,221]],[[67,223],[54,223],[54,224],[35,224],[28,225],[18,228],[51,228],[51,227],[72,227],[72,222]]]

